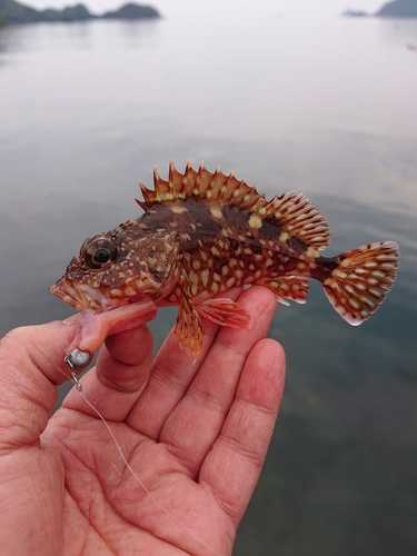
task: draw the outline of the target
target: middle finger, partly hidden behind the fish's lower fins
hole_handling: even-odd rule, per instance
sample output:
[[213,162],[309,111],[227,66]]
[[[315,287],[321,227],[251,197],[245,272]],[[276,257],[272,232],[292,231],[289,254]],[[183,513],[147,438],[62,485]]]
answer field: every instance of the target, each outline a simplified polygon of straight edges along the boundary
[[[222,296],[227,295],[236,300],[241,291],[242,288],[232,288]],[[167,417],[185,396],[220,328],[219,325],[207,319],[203,319],[203,326],[205,340],[196,363],[180,348],[173,330],[165,340],[153,361],[149,383],[127,419],[127,423],[138,433],[155,440],[159,439]]]

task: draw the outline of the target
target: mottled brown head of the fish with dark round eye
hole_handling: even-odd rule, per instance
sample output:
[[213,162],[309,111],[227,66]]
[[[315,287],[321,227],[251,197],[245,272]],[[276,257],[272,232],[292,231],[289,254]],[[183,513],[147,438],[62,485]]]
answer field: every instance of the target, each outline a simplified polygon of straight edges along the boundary
[[86,239],[50,291],[80,312],[106,311],[163,297],[178,275],[173,234],[140,236],[135,227],[125,225],[125,229]]

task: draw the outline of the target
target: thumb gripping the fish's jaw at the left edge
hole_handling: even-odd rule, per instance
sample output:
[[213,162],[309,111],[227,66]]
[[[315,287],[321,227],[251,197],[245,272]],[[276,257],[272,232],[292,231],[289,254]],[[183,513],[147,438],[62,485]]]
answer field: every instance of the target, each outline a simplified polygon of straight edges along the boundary
[[0,340],[2,448],[38,441],[69,378],[64,349],[77,326],[63,322],[17,328]]

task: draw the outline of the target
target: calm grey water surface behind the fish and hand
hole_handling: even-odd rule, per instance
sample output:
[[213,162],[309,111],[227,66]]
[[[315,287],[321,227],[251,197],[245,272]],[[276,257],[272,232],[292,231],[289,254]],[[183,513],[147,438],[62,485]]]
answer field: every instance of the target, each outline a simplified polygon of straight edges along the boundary
[[[199,6],[0,30],[0,331],[70,315],[48,286],[86,237],[137,216],[137,180],[170,158],[306,192],[327,254],[395,239],[398,280],[361,327],[316,284],[279,306],[287,388],[236,555],[414,555],[417,21]],[[157,345],[173,318],[151,324]]]

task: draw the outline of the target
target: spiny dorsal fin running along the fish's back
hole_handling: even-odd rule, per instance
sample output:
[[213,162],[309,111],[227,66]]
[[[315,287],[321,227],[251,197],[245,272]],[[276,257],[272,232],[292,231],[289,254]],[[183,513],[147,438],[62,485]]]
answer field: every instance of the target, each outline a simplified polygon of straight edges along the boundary
[[264,195],[259,195],[256,188],[249,187],[245,180],[239,181],[234,173],[226,176],[220,168],[209,172],[202,162],[198,171],[188,162],[185,172],[180,173],[171,160],[168,181],[163,180],[155,168],[155,190],[148,189],[141,181],[139,186],[143,201],[136,200],[145,211],[156,203],[177,199],[201,199],[236,207],[254,215],[259,222],[266,220],[289,238],[317,249],[327,247],[330,240],[330,230],[324,216],[302,193],[291,190],[267,201]]

